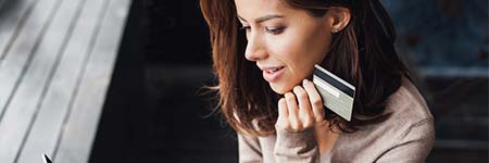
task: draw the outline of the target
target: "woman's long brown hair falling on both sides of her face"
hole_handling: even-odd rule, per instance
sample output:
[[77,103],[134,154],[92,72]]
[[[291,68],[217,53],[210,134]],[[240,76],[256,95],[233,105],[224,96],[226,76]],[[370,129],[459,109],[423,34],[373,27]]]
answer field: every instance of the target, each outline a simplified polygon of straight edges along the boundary
[[[379,123],[385,100],[409,77],[393,41],[396,32],[378,0],[284,0],[286,4],[323,16],[328,8],[346,7],[352,12],[349,25],[333,35],[331,46],[322,66],[355,86],[353,117],[347,122],[326,110],[326,120],[342,131]],[[212,59],[218,85],[221,113],[238,133],[265,136],[275,133],[277,101],[275,93],[261,79],[261,71],[244,59],[246,36],[239,32],[233,0],[201,0],[202,14],[209,25]]]

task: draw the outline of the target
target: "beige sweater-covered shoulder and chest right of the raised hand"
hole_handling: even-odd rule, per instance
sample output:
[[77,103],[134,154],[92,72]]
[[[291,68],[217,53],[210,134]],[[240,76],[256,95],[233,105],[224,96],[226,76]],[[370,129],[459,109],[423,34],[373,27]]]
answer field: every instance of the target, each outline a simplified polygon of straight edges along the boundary
[[[417,88],[403,78],[401,87],[385,102],[387,120],[341,135],[331,160],[376,162],[392,155],[400,159],[413,153],[429,153],[435,141],[434,117]],[[350,143],[353,141],[356,142],[354,146]]]

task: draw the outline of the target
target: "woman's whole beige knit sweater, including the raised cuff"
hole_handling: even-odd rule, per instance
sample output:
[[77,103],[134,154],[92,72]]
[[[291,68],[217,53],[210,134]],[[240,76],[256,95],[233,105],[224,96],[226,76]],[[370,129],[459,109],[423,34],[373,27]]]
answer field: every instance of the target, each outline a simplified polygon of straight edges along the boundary
[[435,141],[434,118],[425,100],[404,78],[386,102],[386,113],[392,113],[387,121],[340,134],[330,152],[323,154],[313,129],[258,138],[238,135],[239,162],[425,162]]

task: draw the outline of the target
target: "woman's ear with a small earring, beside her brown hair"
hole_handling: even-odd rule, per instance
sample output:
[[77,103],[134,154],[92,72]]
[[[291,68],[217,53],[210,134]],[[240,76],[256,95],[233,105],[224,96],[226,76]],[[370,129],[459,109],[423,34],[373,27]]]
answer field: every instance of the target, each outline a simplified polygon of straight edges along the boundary
[[329,20],[329,26],[331,33],[338,33],[347,27],[351,20],[351,13],[348,8],[344,7],[331,7],[327,13]]

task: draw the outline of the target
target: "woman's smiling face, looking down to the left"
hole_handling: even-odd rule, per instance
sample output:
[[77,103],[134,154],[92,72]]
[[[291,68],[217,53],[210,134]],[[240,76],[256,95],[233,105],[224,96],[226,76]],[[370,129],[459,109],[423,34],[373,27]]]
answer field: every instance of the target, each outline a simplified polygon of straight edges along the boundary
[[277,93],[290,91],[325,58],[331,17],[314,17],[280,0],[235,0],[247,33],[246,59],[256,62]]

